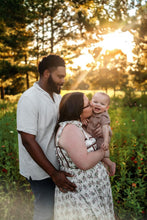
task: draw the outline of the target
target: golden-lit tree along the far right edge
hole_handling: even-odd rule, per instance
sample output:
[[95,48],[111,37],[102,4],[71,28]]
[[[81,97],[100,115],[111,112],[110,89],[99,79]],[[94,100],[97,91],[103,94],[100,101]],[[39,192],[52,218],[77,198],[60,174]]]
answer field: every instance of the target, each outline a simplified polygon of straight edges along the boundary
[[[134,1],[133,1],[134,2]],[[135,3],[134,3],[135,7]],[[136,89],[144,92],[147,88],[147,16],[146,7],[138,0],[136,14],[128,21],[129,24],[123,30],[129,30],[134,35],[134,62],[130,64],[129,73]]]

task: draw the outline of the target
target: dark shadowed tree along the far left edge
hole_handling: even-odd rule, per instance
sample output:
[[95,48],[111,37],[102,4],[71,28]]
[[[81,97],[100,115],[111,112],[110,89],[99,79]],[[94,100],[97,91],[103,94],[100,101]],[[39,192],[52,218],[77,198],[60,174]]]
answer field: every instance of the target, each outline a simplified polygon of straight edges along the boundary
[[1,1],[0,25],[0,77],[1,90],[4,91],[5,80],[11,79],[11,84],[19,74],[19,65],[23,58],[26,59],[28,43],[32,40],[31,31],[26,30],[27,9],[23,0]]

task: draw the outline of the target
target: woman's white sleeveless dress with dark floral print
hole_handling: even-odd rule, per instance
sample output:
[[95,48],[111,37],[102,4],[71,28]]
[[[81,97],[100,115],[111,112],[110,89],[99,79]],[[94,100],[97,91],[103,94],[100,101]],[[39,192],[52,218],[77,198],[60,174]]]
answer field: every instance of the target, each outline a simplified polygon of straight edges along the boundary
[[[114,220],[111,185],[106,168],[102,162],[89,170],[79,169],[59,146],[59,138],[67,124],[74,124],[85,136],[87,151],[97,149],[96,140],[89,136],[79,121],[61,122],[56,136],[56,154],[60,170],[71,173],[68,177],[77,186],[76,192],[62,193],[55,188],[54,220]],[[76,137],[75,137],[76,138]]]

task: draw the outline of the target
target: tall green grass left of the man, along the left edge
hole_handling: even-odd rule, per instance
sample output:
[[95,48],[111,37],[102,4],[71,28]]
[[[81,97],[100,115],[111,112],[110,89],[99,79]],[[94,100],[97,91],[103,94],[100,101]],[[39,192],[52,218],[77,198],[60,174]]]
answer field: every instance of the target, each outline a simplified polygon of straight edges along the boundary
[[0,220],[32,219],[33,196],[19,175],[16,105],[0,103]]

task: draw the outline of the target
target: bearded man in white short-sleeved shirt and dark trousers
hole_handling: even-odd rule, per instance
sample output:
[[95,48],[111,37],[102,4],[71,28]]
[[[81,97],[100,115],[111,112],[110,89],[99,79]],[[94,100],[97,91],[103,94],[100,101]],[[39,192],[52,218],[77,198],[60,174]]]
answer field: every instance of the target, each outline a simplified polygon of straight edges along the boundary
[[55,184],[75,190],[75,184],[58,171],[54,129],[58,118],[65,62],[57,55],[44,57],[38,67],[40,80],[25,91],[17,107],[20,174],[35,195],[34,220],[53,218]]

